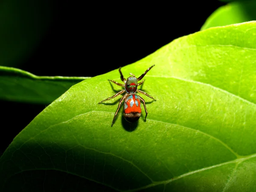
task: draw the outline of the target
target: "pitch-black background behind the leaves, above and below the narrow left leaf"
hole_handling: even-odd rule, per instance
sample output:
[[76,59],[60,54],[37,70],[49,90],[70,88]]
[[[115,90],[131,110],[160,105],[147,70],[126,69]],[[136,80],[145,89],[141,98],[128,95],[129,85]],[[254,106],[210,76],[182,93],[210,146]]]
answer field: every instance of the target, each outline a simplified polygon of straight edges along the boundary
[[[51,26],[20,69],[38,76],[107,73],[199,31],[207,17],[225,4],[218,0],[144,5],[81,2],[55,2]],[[0,106],[1,129],[6,132],[0,137],[1,155],[46,106],[6,101]]]

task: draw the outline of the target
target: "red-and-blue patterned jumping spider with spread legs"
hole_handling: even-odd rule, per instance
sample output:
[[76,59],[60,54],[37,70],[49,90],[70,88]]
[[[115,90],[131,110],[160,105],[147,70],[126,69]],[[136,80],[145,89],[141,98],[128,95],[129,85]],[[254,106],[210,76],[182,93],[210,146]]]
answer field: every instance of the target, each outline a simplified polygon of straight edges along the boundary
[[[136,78],[134,76],[134,74],[130,73],[131,77],[128,77],[127,80],[124,78],[124,76],[122,75],[122,72],[121,72],[121,67],[119,68],[119,73],[120,73],[120,78],[121,80],[125,83],[125,84],[121,84],[121,83],[118,83],[116,81],[113,81],[113,80],[110,80],[108,79],[108,81],[111,81],[113,82],[114,84],[117,84],[121,87],[125,87],[124,90],[121,90],[119,91],[118,93],[116,93],[115,95],[113,95],[112,97],[109,97],[108,99],[104,99],[102,100],[101,102],[105,102],[109,99],[113,99],[114,97],[116,96],[119,96],[121,95],[122,93],[125,93],[124,96],[122,96],[122,99],[120,100],[119,102],[119,105],[117,107],[117,110],[116,110],[116,113],[115,113],[115,116],[113,118],[113,121],[112,121],[112,125],[111,127],[113,126],[113,123],[116,119],[116,115],[117,115],[117,112],[119,111],[119,108],[122,104],[123,101],[125,101],[125,104],[124,104],[124,112],[123,112],[123,115],[125,117],[125,120],[128,121],[128,122],[135,122],[137,121],[138,119],[140,119],[140,116],[141,116],[141,108],[140,108],[140,101],[143,102],[143,105],[144,105],[144,108],[145,108],[145,112],[146,112],[146,115],[145,115],[145,120],[146,120],[146,117],[148,115],[148,111],[147,111],[147,108],[146,108],[146,105],[145,105],[145,100],[136,94],[136,92],[138,93],[141,93],[145,96],[148,96],[150,97],[151,99],[154,99],[152,96],[148,95],[148,93],[145,93],[141,90],[137,90],[137,87],[140,86],[141,84],[143,84],[143,81],[140,81],[141,79],[143,79],[143,77],[145,76],[146,73],[148,73],[148,71],[154,67],[154,65],[152,65],[151,67],[149,67],[139,78]],[[138,83],[138,81],[140,81],[140,83]],[[154,99],[156,100],[156,99]],[[99,104],[101,103],[99,102]]]

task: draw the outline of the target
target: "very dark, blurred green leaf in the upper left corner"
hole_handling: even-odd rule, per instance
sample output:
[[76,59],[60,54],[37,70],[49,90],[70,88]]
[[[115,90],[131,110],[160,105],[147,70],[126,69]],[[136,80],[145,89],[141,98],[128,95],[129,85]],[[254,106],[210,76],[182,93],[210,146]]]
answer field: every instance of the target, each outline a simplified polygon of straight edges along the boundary
[[17,66],[28,57],[52,17],[52,0],[1,0],[0,65]]

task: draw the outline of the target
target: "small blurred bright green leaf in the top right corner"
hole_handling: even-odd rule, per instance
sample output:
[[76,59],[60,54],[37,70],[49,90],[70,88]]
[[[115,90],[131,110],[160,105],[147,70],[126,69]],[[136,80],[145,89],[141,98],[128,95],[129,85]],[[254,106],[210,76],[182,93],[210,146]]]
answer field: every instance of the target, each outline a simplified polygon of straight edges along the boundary
[[256,20],[256,1],[232,2],[221,6],[210,15],[201,30]]

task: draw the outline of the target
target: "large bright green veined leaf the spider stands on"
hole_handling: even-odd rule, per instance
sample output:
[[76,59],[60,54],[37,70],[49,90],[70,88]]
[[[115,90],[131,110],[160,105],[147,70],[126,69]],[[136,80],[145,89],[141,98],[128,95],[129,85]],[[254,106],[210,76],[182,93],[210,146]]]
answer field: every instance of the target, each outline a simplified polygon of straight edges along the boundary
[[255,191],[256,22],[197,32],[122,68],[145,76],[137,123],[118,70],[71,87],[0,158],[0,190]]

